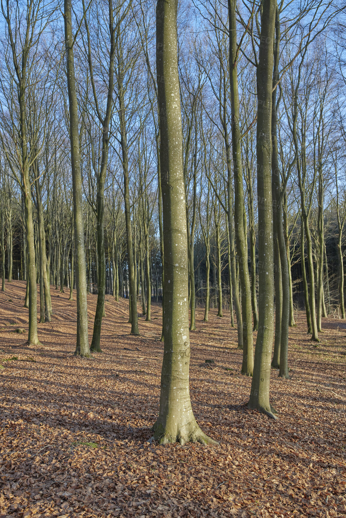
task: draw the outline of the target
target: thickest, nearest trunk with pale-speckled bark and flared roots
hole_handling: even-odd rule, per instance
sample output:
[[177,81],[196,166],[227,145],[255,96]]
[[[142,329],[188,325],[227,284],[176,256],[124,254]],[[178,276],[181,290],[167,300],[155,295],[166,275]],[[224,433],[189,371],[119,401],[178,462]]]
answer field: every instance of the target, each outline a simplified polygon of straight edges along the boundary
[[156,63],[164,239],[164,351],[154,438],[211,442],[192,413],[189,394],[188,258],[182,120],[177,67],[177,0],[158,0]]

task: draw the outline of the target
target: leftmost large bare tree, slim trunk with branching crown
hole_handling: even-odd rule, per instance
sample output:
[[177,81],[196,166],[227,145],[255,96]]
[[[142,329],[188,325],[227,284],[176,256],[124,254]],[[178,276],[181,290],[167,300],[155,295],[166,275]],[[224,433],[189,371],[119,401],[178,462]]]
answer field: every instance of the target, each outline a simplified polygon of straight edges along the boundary
[[[49,20],[49,13],[35,0],[30,0],[23,9],[12,9],[10,0],[1,4],[7,31],[7,46],[4,49],[5,70],[3,70],[1,88],[2,125],[0,133],[3,150],[16,179],[24,202],[25,231],[27,241],[27,287],[29,306],[29,333],[27,344],[35,347],[40,344],[37,336],[37,286],[35,266],[35,240],[33,222],[33,199],[31,192],[31,169],[41,146],[30,140],[27,102],[30,88],[35,84],[37,69],[42,70],[44,56],[39,49],[40,36],[44,33]],[[22,22],[23,20],[23,22]],[[14,26],[14,27],[13,27]],[[13,32],[13,28],[14,31]],[[5,108],[6,107],[6,108]]]

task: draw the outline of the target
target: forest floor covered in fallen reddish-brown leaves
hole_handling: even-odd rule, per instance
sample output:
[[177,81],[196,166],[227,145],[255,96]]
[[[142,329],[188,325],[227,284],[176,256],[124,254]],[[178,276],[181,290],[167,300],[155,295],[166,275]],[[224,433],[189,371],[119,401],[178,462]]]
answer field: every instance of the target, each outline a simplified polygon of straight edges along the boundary
[[[51,290],[44,344],[29,349],[25,283],[0,292],[0,517],[346,515],[346,323],[323,319],[318,347],[303,312],[290,329],[291,379],[272,370],[278,421],[245,408],[251,379],[230,314],[190,334],[196,419],[218,445],[159,446],[161,308],[132,337],[128,301],[106,296],[103,353],[73,356],[76,301]],[[75,296],[75,295],[74,295]],[[92,335],[96,296],[88,295]],[[206,364],[214,359],[215,364]]]

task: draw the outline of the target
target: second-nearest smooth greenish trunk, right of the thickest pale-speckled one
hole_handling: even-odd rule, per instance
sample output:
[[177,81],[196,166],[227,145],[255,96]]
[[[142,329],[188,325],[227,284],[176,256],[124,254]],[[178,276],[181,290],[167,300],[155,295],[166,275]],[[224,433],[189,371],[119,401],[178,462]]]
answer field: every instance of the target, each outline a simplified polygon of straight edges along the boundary
[[[258,197],[258,333],[248,408],[274,418],[269,402],[270,363],[274,335],[273,210],[271,190],[271,103],[273,37],[276,1],[262,3],[257,66],[257,197]],[[275,419],[275,418],[274,418]]]

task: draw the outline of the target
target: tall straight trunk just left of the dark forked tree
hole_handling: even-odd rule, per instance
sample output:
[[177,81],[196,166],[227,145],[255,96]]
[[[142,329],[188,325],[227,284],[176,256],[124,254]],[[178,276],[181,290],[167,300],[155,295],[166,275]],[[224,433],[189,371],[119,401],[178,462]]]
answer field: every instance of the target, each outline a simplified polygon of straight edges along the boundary
[[75,226],[76,291],[77,291],[77,344],[76,355],[90,357],[88,340],[88,306],[86,262],[83,223],[83,198],[80,171],[78,105],[73,56],[71,0],[64,0],[65,47],[68,101],[70,104],[70,140],[73,190],[73,216]]

